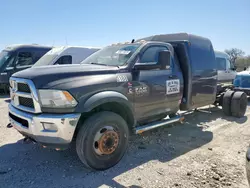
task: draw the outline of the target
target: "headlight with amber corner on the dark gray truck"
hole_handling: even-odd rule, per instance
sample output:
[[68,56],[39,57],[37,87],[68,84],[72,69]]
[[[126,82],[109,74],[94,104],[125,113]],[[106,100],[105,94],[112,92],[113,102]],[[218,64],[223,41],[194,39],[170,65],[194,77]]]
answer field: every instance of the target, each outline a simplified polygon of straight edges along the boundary
[[39,90],[41,105],[47,108],[70,108],[77,105],[77,101],[67,91]]

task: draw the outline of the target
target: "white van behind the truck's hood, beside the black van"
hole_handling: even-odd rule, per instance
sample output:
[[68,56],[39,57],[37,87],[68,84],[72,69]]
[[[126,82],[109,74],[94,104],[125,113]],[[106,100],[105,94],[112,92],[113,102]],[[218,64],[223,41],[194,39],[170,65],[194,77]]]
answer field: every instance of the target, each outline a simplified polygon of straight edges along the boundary
[[33,67],[47,65],[80,64],[85,58],[100,48],[83,46],[54,47],[42,56]]

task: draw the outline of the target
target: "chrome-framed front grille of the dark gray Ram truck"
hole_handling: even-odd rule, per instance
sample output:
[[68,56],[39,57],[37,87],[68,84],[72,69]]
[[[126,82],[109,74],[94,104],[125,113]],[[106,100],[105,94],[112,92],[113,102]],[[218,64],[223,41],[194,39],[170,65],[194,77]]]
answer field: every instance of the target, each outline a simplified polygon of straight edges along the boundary
[[14,107],[31,113],[41,112],[37,91],[31,80],[11,77],[10,96]]

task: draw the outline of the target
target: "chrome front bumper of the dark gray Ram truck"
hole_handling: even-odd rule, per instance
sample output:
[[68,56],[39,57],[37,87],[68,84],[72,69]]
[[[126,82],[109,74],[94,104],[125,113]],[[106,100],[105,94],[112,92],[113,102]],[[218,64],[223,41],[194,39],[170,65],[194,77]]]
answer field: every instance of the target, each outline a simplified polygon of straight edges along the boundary
[[9,119],[21,134],[44,144],[69,144],[81,114],[31,114],[9,104]]

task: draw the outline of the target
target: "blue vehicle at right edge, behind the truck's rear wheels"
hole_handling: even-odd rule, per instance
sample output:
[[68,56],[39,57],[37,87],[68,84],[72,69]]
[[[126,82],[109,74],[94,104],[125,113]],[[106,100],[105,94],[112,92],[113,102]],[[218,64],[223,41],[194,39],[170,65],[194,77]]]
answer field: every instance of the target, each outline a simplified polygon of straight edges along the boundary
[[234,79],[234,89],[250,95],[250,70],[238,72]]

